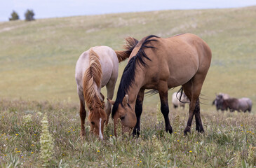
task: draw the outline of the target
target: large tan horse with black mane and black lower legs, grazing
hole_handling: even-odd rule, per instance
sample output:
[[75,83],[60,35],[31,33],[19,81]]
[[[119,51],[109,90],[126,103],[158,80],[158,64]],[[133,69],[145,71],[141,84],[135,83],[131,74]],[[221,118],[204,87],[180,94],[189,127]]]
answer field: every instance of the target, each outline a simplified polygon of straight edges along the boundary
[[166,123],[166,132],[173,132],[169,120],[168,89],[182,85],[189,97],[189,120],[184,134],[190,132],[194,115],[196,130],[203,132],[200,115],[199,94],[210,67],[211,50],[201,38],[194,34],[180,34],[170,38],[147,36],[142,38],[130,54],[129,62],[116,96],[112,118],[116,134],[117,119],[121,119],[123,132],[133,129],[133,135],[140,134],[140,116],[144,90],[159,92],[161,112]]

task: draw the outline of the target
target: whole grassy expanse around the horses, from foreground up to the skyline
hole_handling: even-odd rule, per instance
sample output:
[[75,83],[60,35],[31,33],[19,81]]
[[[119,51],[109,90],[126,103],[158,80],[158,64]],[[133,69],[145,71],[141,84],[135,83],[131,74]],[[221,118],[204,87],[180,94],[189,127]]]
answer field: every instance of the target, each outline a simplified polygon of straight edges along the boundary
[[[0,22],[0,167],[41,166],[41,113],[47,113],[54,139],[50,167],[255,167],[255,107],[252,113],[218,113],[211,106],[218,92],[256,102],[255,16],[252,6]],[[95,45],[121,50],[126,36],[187,32],[203,38],[213,52],[201,95],[204,134],[192,123],[184,137],[188,109],[175,110],[171,101],[175,133],[165,134],[154,95],[144,99],[141,137],[110,137],[110,125],[105,141],[95,140],[86,123],[88,136],[79,139],[74,67],[84,50]],[[126,64],[120,64],[119,77]]]

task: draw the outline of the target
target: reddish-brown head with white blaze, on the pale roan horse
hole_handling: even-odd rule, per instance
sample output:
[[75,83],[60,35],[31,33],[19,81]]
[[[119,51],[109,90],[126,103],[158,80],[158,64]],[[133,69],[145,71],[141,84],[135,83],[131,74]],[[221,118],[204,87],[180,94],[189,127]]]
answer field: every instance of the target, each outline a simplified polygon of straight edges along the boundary
[[89,105],[89,115],[88,120],[90,123],[90,132],[97,134],[100,139],[103,139],[104,125],[107,120],[107,113],[105,112],[105,102],[102,101],[101,104]]

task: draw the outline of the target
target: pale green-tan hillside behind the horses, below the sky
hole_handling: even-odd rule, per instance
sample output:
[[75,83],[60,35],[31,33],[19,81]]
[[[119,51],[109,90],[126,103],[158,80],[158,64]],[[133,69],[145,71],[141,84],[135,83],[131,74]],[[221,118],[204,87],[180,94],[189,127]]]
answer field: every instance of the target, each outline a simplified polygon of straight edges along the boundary
[[[169,37],[189,32],[203,38],[213,51],[202,90],[203,109],[213,109],[209,104],[217,92],[250,97],[255,104],[255,16],[252,6],[0,22],[0,99],[78,104],[74,67],[83,51],[95,45],[121,50],[126,36],[140,40],[149,34]],[[121,63],[120,77],[126,64]],[[145,104],[149,102],[155,107],[158,95],[146,97]]]

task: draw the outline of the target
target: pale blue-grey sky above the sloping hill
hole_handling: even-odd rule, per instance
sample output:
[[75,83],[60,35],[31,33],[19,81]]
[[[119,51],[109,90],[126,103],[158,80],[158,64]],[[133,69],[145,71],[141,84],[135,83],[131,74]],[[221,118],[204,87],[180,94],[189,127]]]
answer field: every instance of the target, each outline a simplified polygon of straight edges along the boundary
[[15,10],[21,20],[27,9],[35,19],[99,15],[152,10],[238,8],[255,6],[256,0],[0,0],[0,22]]

